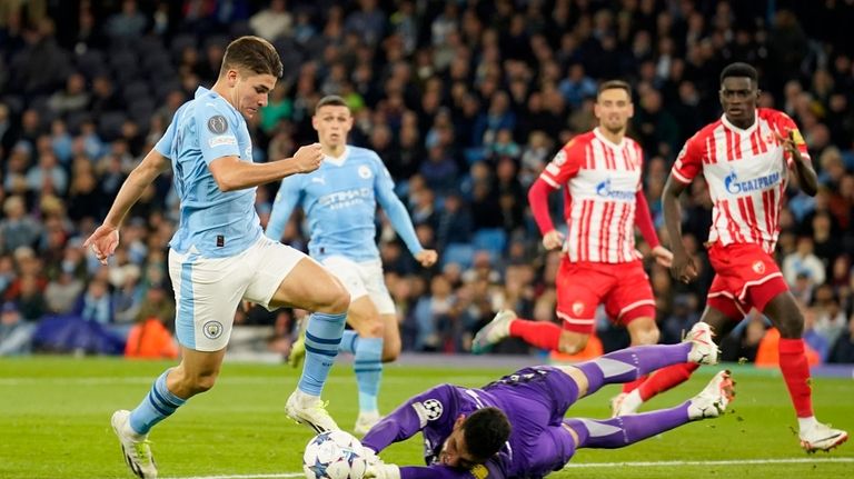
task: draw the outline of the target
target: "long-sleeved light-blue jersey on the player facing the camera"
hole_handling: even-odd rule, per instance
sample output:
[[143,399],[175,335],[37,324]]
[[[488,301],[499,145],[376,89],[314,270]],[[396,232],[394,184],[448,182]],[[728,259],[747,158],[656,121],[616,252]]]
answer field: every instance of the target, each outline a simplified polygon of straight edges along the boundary
[[281,180],[266,234],[280,240],[290,213],[299,204],[308,218],[311,257],[375,260],[379,258],[375,238],[379,203],[409,251],[416,255],[423,248],[394,188],[391,176],[376,152],[347,146],[341,158],[327,157],[317,170]]

